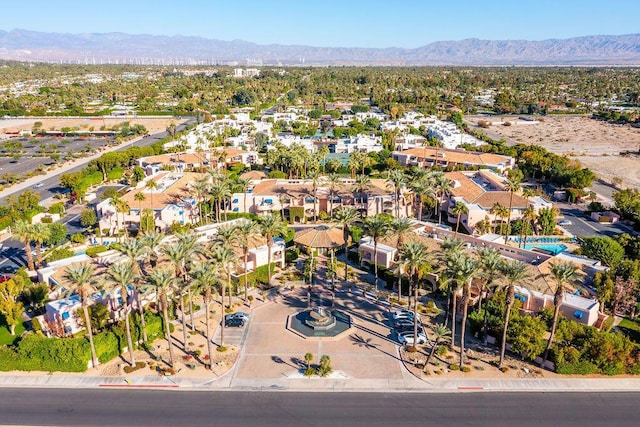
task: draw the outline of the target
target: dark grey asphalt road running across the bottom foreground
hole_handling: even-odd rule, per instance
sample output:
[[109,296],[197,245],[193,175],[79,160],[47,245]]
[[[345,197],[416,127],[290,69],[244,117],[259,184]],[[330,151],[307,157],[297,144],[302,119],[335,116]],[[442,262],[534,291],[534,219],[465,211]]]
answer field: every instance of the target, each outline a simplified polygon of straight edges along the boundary
[[637,400],[633,393],[3,389],[0,424],[621,427],[638,425]]

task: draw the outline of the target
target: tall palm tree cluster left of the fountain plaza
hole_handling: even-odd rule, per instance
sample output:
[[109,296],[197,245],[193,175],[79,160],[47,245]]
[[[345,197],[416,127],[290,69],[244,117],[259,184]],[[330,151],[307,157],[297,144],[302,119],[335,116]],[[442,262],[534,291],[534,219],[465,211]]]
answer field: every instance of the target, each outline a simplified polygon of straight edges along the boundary
[[[265,215],[259,223],[244,220],[238,225],[221,227],[216,238],[210,243],[201,243],[195,234],[177,234],[167,238],[161,233],[150,232],[115,245],[124,255],[124,260],[109,265],[103,275],[96,277],[90,264],[72,265],[66,269],[66,279],[72,284],[67,294],[76,294],[80,300],[84,325],[91,346],[91,358],[94,366],[98,357],[93,344],[93,331],[89,318],[89,305],[92,295],[103,289],[111,292],[120,302],[120,315],[125,322],[129,362],[135,364],[134,343],[132,342],[129,316],[134,308],[138,310],[146,341],[144,324],[145,298],[155,295],[156,307],[162,313],[164,334],[169,348],[169,364],[174,365],[174,338],[171,336],[170,311],[175,304],[182,323],[182,349],[189,352],[187,331],[195,331],[193,319],[193,300],[201,296],[206,313],[206,329],[209,361],[212,360],[212,336],[210,330],[212,304],[219,295],[219,304],[223,308],[231,306],[234,292],[234,279],[240,256],[246,265],[249,249],[256,245],[260,235],[267,238],[269,260],[274,238],[286,232],[286,224],[279,216]],[[270,264],[270,263],[269,263]],[[269,276],[271,268],[269,267]],[[247,298],[248,271],[244,271],[244,298]],[[225,304],[225,296],[228,299]],[[187,313],[190,319],[187,320]],[[219,346],[224,345],[224,322],[221,327]],[[180,341],[180,340],[178,340]]]

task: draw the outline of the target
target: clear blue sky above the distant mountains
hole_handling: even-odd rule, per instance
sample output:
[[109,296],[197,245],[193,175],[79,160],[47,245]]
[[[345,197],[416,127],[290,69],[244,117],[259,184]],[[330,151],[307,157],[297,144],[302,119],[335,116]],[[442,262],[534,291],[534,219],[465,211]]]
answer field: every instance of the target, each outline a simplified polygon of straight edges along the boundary
[[640,33],[639,0],[17,0],[0,29],[162,34],[259,44],[415,48],[441,40]]

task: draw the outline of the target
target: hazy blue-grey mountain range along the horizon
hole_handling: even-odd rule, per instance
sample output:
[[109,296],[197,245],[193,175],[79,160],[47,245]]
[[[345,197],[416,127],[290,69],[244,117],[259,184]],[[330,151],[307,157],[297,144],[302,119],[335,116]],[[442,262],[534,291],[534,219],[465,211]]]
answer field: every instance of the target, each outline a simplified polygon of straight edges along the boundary
[[0,31],[0,59],[232,65],[640,65],[640,34],[441,41],[415,49],[260,45],[147,34]]

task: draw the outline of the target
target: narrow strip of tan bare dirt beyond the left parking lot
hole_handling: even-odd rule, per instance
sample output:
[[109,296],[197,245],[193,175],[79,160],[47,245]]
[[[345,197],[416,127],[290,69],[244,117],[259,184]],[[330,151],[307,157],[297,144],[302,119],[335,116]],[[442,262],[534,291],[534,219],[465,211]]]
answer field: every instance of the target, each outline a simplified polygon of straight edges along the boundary
[[35,122],[42,122],[42,127],[47,130],[60,130],[63,127],[78,127],[81,130],[89,130],[90,127],[93,127],[95,130],[100,130],[102,126],[104,126],[106,129],[110,129],[118,123],[129,122],[132,125],[141,124],[147,128],[149,133],[155,133],[165,130],[171,123],[177,125],[182,121],[183,120],[179,120],[174,117],[144,117],[135,119],[125,117],[52,117],[46,119],[2,119],[0,120],[0,135],[5,134],[6,132],[31,130]]

